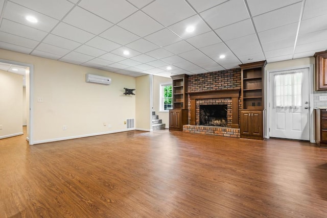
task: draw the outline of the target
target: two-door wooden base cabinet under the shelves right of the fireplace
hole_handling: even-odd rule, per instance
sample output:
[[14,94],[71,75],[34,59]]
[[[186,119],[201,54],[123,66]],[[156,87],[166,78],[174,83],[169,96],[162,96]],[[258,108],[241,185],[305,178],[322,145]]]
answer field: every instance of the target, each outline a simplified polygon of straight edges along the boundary
[[241,111],[241,137],[263,140],[263,111]]

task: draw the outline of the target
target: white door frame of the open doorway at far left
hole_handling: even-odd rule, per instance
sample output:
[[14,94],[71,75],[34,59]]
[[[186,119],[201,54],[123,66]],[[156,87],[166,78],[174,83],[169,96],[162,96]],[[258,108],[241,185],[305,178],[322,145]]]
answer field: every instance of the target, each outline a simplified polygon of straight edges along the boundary
[[27,133],[27,140],[29,141],[29,144],[32,145],[34,144],[34,116],[33,116],[33,112],[34,112],[34,65],[33,64],[28,64],[28,63],[22,63],[22,62],[17,62],[17,61],[9,61],[9,60],[4,60],[4,59],[0,59],[0,62],[3,63],[8,63],[8,64],[14,64],[14,65],[20,65],[20,66],[26,66],[30,68],[30,108],[29,108],[29,132]]

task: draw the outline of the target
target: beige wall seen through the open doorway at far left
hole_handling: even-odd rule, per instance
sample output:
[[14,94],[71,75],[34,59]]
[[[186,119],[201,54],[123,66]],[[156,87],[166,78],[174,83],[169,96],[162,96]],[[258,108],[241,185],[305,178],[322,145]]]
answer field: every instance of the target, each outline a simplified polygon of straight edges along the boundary
[[22,134],[22,76],[0,70],[0,138]]

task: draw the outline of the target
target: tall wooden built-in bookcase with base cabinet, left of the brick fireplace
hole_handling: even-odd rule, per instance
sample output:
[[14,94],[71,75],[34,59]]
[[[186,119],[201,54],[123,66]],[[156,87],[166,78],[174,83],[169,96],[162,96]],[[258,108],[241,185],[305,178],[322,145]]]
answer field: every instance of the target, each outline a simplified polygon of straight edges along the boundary
[[169,110],[169,130],[183,131],[183,125],[188,124],[189,101],[188,91],[189,75],[172,76],[173,109]]

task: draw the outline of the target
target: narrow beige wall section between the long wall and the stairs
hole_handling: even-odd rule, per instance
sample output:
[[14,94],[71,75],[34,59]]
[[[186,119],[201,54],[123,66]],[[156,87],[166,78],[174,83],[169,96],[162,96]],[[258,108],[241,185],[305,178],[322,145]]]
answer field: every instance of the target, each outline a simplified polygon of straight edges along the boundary
[[151,127],[151,75],[136,77],[136,129],[150,131]]

